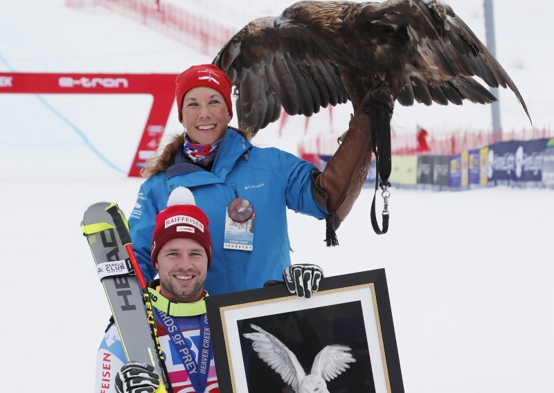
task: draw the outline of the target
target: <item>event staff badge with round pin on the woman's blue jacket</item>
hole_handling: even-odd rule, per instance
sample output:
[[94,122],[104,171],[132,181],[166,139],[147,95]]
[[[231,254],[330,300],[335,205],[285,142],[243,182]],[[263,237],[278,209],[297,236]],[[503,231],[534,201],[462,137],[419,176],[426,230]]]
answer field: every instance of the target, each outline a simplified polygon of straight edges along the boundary
[[235,198],[227,206],[223,248],[253,250],[256,212],[248,199]]

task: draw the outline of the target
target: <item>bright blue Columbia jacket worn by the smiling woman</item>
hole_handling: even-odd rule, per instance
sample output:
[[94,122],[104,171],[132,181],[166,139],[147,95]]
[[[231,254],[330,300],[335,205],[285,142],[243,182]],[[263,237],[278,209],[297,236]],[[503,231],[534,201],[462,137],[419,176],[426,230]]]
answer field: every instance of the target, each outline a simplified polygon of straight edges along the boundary
[[[267,147],[254,147],[227,129],[211,171],[190,163],[180,150],[166,172],[146,179],[129,216],[133,249],[148,282],[157,274],[150,263],[154,217],[166,208],[170,192],[189,188],[210,220],[212,264],[206,290],[212,295],[260,288],[282,280],[290,264],[286,208],[323,219],[327,212],[312,197],[312,163]],[[224,248],[226,208],[235,197],[248,199],[255,212],[253,250]]]

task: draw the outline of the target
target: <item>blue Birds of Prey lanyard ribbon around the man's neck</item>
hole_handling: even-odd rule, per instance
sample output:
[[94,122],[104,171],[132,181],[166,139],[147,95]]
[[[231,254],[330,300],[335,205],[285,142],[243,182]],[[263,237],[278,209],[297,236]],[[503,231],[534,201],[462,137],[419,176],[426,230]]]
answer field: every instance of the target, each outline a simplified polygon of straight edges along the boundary
[[208,382],[208,370],[210,369],[210,363],[212,358],[212,346],[210,342],[210,327],[208,326],[208,316],[206,313],[200,316],[200,347],[198,349],[198,363],[195,360],[195,354],[190,348],[190,344],[184,339],[181,330],[177,326],[175,318],[152,307],[154,313],[159,320],[166,327],[168,336],[171,339],[172,344],[177,349],[179,356],[181,356],[181,362],[185,366],[186,373],[190,379],[190,383],[193,384],[195,392],[204,393],[206,384]]

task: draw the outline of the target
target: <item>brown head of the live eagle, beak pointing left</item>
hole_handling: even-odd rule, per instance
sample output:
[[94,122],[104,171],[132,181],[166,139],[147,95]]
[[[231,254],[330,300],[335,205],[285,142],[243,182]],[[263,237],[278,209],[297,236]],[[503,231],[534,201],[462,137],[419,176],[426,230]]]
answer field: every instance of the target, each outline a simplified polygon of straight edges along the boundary
[[326,30],[338,30],[342,24],[341,14],[344,1],[298,1],[285,8],[275,18],[274,28],[290,25],[319,27]]

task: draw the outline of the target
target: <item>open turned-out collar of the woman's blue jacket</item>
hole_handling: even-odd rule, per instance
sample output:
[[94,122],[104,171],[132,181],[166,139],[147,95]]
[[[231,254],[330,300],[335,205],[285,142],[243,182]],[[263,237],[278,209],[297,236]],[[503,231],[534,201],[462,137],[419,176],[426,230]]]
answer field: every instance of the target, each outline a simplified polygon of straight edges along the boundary
[[[220,179],[225,179],[226,175],[231,172],[235,163],[244,156],[248,159],[248,151],[252,148],[252,144],[248,140],[244,139],[237,131],[232,128],[228,128],[225,131],[223,140],[217,149],[217,154],[213,162],[211,173]],[[191,163],[183,149],[179,149],[175,156],[173,156],[173,164],[166,170],[166,176],[168,179],[172,176],[180,174],[189,174],[192,172],[203,171],[207,172],[200,165]]]

